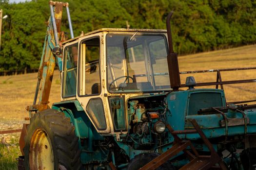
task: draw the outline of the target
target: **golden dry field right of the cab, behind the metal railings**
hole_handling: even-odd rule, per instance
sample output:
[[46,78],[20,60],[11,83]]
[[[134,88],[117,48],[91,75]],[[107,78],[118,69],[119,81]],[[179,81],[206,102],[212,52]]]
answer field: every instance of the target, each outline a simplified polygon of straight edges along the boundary
[[[180,56],[178,62],[180,71],[256,67],[256,45]],[[181,84],[185,84],[187,76],[194,76],[197,83],[216,82],[217,72],[181,74]],[[222,81],[256,79],[256,69],[224,71],[221,72],[221,78]],[[227,102],[256,99],[256,83],[223,86]]]

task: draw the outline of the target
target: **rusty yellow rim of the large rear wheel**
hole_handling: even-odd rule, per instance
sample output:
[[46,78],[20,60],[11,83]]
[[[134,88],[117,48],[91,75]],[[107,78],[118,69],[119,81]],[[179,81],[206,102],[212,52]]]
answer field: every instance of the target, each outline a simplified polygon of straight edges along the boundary
[[54,170],[51,140],[42,129],[37,129],[30,141],[29,165],[32,170]]

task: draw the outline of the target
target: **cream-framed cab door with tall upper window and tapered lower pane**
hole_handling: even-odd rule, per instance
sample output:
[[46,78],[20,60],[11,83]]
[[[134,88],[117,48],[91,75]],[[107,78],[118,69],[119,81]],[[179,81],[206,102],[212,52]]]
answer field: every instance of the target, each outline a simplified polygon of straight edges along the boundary
[[98,133],[110,133],[104,105],[101,33],[79,39],[77,99]]

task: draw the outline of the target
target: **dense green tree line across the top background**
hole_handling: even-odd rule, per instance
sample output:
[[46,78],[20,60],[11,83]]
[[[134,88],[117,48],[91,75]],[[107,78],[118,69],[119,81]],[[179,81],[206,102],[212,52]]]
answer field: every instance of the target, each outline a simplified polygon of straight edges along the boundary
[[[166,29],[170,11],[178,54],[211,51],[256,43],[255,0],[66,0],[75,36],[100,28]],[[8,18],[2,22],[0,70],[38,68],[48,0],[9,3],[0,0]],[[62,30],[68,31],[63,9]],[[69,36],[70,37],[70,36]]]

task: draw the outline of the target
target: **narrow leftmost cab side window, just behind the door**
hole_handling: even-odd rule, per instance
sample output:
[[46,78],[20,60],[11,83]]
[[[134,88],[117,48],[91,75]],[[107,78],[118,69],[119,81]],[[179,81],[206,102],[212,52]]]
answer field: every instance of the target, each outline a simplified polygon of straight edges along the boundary
[[76,96],[78,43],[64,49],[62,97]]

